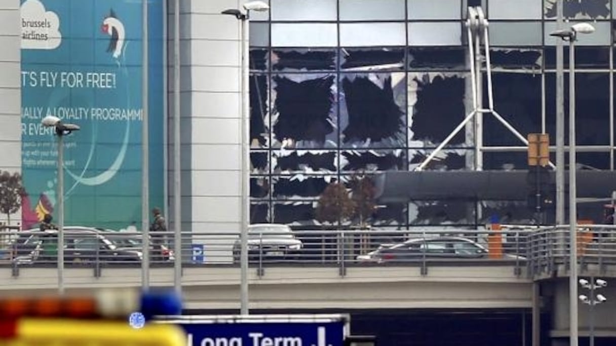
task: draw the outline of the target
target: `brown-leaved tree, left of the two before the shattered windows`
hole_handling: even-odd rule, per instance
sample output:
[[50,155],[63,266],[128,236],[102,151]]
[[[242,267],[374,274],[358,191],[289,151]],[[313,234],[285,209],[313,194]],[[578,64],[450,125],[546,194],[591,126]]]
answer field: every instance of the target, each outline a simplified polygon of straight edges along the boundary
[[354,212],[355,204],[342,183],[330,183],[318,199],[316,214],[320,222],[337,223],[340,227]]

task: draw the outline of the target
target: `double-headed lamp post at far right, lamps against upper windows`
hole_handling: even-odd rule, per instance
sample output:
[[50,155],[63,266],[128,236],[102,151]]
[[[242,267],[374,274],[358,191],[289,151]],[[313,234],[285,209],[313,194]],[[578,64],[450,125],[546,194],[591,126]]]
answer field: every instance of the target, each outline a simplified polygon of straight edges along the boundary
[[556,30],[550,36],[569,41],[569,344],[578,345],[577,300],[577,185],[575,183],[575,41],[577,34],[590,34],[588,23],[572,25],[569,30]]

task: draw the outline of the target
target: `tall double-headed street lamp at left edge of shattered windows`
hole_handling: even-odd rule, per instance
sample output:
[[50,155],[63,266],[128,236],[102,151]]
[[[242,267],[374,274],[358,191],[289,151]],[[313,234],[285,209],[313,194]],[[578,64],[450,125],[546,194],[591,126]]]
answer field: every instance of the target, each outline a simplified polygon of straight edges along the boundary
[[233,15],[241,22],[241,230],[240,230],[240,312],[248,315],[248,225],[250,212],[250,119],[248,100],[248,25],[250,11],[264,12],[269,5],[263,1],[249,1],[239,9],[227,9],[222,14]]

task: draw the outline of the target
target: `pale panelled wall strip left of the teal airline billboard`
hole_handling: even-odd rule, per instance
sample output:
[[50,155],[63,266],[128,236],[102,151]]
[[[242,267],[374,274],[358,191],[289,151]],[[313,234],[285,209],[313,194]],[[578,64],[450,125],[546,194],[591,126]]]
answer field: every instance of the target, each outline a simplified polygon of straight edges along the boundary
[[[0,170],[21,172],[21,25],[19,0],[0,1]],[[18,211],[11,223],[20,222]],[[0,215],[0,222],[6,222]]]

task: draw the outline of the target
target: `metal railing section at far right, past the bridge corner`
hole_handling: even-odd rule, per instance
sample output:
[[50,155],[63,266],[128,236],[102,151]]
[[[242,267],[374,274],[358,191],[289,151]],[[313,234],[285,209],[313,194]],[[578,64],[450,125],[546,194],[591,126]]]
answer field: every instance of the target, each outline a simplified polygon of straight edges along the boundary
[[[616,226],[578,225],[577,259],[580,270],[605,272],[616,265]],[[529,265],[534,276],[554,275],[570,267],[569,225],[540,228],[529,237]]]

